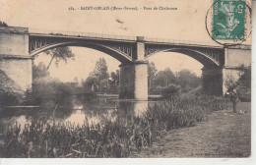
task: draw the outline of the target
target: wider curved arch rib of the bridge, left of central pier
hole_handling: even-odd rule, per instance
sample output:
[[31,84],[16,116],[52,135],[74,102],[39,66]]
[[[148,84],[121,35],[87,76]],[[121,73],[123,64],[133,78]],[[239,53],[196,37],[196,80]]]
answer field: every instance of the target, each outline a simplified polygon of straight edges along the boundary
[[70,42],[62,42],[62,43],[54,43],[45,45],[42,47],[39,47],[32,52],[30,52],[30,56],[34,57],[38,53],[41,53],[45,50],[56,48],[56,47],[63,47],[63,46],[78,46],[78,47],[86,47],[95,49],[97,51],[103,52],[107,55],[110,55],[111,57],[115,58],[121,63],[130,63],[132,62],[132,57],[127,56],[125,53],[122,53],[121,51],[117,51],[114,48],[111,48],[109,46],[105,46],[98,43],[91,43],[91,42],[83,42],[83,41],[70,41]]

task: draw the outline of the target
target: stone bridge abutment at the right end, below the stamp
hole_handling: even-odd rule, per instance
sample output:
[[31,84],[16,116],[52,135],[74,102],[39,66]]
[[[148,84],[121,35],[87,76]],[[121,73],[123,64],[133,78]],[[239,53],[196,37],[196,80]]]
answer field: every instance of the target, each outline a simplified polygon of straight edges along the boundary
[[223,66],[203,69],[203,89],[208,94],[224,95],[228,82],[237,82],[251,65],[249,46],[229,46],[224,48]]

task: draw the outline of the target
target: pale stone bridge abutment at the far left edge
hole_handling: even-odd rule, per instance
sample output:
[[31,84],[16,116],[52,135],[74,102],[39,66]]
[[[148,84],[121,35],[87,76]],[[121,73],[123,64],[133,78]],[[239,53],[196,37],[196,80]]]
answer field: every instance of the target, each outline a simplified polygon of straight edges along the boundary
[[0,32],[0,72],[9,84],[1,84],[0,87],[5,85],[25,92],[32,87],[29,30],[26,27],[9,28],[8,32]]

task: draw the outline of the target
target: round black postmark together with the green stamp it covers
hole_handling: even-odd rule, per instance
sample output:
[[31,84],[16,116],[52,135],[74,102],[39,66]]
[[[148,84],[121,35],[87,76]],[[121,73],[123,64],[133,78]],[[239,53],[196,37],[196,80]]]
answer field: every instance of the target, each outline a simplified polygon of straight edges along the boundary
[[251,34],[251,8],[246,0],[213,0],[206,28],[219,44],[242,44]]

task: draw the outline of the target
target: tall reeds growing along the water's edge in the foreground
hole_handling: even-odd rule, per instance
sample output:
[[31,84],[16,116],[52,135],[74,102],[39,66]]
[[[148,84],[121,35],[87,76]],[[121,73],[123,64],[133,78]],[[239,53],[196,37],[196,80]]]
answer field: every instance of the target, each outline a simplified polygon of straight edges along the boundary
[[128,157],[150,147],[167,131],[192,127],[214,110],[226,108],[225,99],[172,97],[152,104],[143,117],[117,118],[101,124],[32,121],[0,129],[0,157]]

